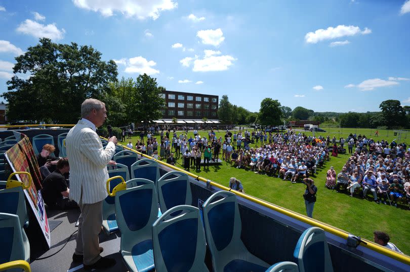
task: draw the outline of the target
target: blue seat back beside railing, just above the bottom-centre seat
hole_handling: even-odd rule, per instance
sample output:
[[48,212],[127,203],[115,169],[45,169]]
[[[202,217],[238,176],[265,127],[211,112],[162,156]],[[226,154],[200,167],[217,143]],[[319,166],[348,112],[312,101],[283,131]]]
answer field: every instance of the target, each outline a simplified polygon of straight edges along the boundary
[[187,174],[171,171],[157,182],[158,200],[161,212],[164,213],[178,205],[191,205],[192,193]]

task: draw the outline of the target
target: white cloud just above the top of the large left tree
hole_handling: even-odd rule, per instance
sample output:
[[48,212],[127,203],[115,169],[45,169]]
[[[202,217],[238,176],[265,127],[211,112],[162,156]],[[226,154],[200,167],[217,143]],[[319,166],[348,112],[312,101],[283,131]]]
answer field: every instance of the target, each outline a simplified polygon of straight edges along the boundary
[[62,28],[61,30],[58,29],[55,23],[43,25],[30,19],[26,19],[24,22],[22,22],[16,30],[17,32],[28,34],[36,38],[46,37],[52,40],[60,40],[64,38],[65,33],[64,28]]

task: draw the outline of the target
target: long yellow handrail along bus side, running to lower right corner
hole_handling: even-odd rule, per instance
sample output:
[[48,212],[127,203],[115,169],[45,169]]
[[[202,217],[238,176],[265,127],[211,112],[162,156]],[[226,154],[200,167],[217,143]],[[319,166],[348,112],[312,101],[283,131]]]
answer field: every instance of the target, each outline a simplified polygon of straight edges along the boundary
[[[103,138],[103,137],[101,137],[101,138]],[[103,139],[107,140],[106,138],[103,138]],[[299,221],[304,222],[304,223],[306,223],[306,224],[309,224],[309,225],[311,225],[311,226],[318,227],[318,228],[322,228],[324,231],[329,232],[329,233],[332,233],[332,234],[334,234],[334,235],[336,235],[336,236],[339,236],[339,237],[341,237],[341,238],[343,238],[343,239],[347,239],[347,237],[349,236],[349,233],[347,233],[347,232],[345,232],[345,231],[343,231],[343,230],[340,230],[340,229],[335,228],[335,227],[333,227],[333,226],[331,226],[331,225],[328,225],[328,224],[319,222],[319,221],[317,221],[317,220],[311,219],[310,217],[308,217],[308,216],[306,216],[306,215],[297,213],[297,212],[295,212],[295,211],[292,211],[292,210],[289,210],[289,209],[286,209],[286,208],[282,208],[282,207],[277,206],[277,205],[275,205],[275,204],[269,203],[269,202],[267,202],[267,201],[265,201],[265,200],[262,200],[262,199],[258,199],[258,198],[256,198],[256,197],[253,197],[253,196],[251,196],[251,195],[248,195],[248,194],[245,194],[245,193],[241,193],[241,192],[236,191],[236,190],[231,190],[229,187],[223,186],[223,185],[218,184],[218,183],[216,183],[216,182],[213,182],[213,181],[210,181],[210,180],[208,180],[208,179],[202,178],[202,177],[200,177],[200,176],[194,175],[194,174],[192,174],[192,173],[190,173],[190,172],[188,172],[188,171],[185,171],[185,170],[183,170],[183,169],[180,169],[180,168],[178,168],[178,167],[169,165],[169,164],[167,164],[167,162],[163,162],[163,161],[161,161],[161,160],[157,160],[157,159],[155,159],[155,158],[153,158],[153,157],[151,157],[151,156],[148,156],[148,155],[146,155],[146,154],[143,154],[143,153],[141,153],[141,152],[138,152],[137,150],[131,149],[131,148],[129,148],[129,147],[127,147],[127,146],[124,146],[124,145],[122,145],[122,144],[119,144],[119,145],[121,145],[121,146],[124,147],[125,149],[128,149],[128,150],[131,150],[131,151],[133,151],[133,152],[136,152],[137,154],[140,154],[141,156],[144,156],[144,157],[147,157],[147,158],[149,158],[149,159],[155,160],[155,161],[157,161],[159,164],[162,164],[162,165],[164,165],[164,166],[166,166],[166,167],[169,167],[169,168],[171,168],[171,169],[174,169],[174,170],[183,172],[183,173],[187,174],[188,176],[191,176],[191,177],[195,178],[195,179],[198,180],[198,181],[210,183],[210,185],[212,185],[212,186],[214,186],[214,187],[217,187],[217,188],[222,189],[222,190],[225,190],[225,191],[230,191],[230,192],[232,192],[232,193],[234,193],[234,194],[236,194],[236,195],[238,195],[238,196],[240,196],[240,197],[242,197],[242,198],[248,199],[248,200],[250,200],[250,201],[252,201],[252,202],[255,202],[255,203],[257,203],[257,204],[259,204],[259,205],[262,205],[262,206],[264,206],[264,207],[267,207],[267,208],[269,208],[269,209],[278,211],[278,212],[280,212],[280,213],[282,213],[282,214],[284,214],[284,215],[290,216],[290,217],[292,217],[292,218],[294,218],[294,219],[296,219],[296,220],[299,220]],[[390,249],[387,249],[386,247],[383,247],[383,246],[381,246],[381,245],[378,245],[378,244],[376,244],[376,243],[374,243],[374,242],[372,242],[372,241],[370,241],[370,240],[366,240],[366,239],[362,239],[362,240],[365,241],[367,244],[361,244],[361,246],[367,247],[367,248],[369,248],[369,249],[372,249],[372,250],[374,250],[374,251],[377,251],[377,252],[379,252],[379,253],[382,253],[382,254],[384,254],[384,255],[386,255],[386,256],[388,256],[388,257],[391,257],[391,258],[393,258],[393,259],[396,259],[396,260],[398,260],[398,261],[401,261],[401,262],[403,262],[403,263],[405,263],[405,264],[410,265],[410,257],[409,257],[409,256],[404,255],[404,254],[400,254],[400,253],[398,253],[398,252],[396,252],[396,251],[393,251],[393,250],[390,250]]]

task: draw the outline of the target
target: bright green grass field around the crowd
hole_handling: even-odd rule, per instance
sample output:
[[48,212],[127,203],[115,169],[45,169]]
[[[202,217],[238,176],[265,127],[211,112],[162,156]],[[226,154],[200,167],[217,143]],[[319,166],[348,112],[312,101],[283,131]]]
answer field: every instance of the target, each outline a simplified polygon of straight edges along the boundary
[[[329,135],[331,135],[331,137],[333,137],[333,135],[338,137],[334,130],[335,129],[331,128],[331,134]],[[199,134],[207,134],[207,132],[204,131],[198,132]],[[343,129],[343,136],[346,137],[350,132],[355,133],[355,131]],[[357,134],[363,133],[366,135],[367,132],[364,129],[362,131],[361,129],[357,129]],[[381,133],[380,130],[379,133]],[[391,136],[389,135],[389,137],[387,137],[386,134],[384,138],[382,136],[374,138],[380,138],[380,140],[385,139],[390,142],[394,139],[392,131],[390,131],[390,134]],[[193,133],[189,131],[188,137],[191,135],[193,136]],[[217,132],[218,138],[224,135],[224,131]],[[316,133],[316,135],[318,136],[320,134]],[[326,136],[327,132],[322,133],[322,135]],[[157,135],[156,137],[157,140],[159,140],[159,136]],[[139,139],[139,137],[133,136],[133,144],[136,143],[137,139]],[[331,166],[334,166],[336,173],[339,173],[348,157],[347,154],[339,154],[338,157],[331,156],[330,161],[326,161],[323,168],[318,169],[316,177],[313,178],[318,188],[313,218],[371,241],[373,241],[373,231],[385,231],[390,235],[391,242],[396,244],[403,253],[410,255],[410,210],[408,209],[408,205],[402,208],[395,208],[390,205],[376,204],[370,200],[361,199],[359,197],[349,197],[347,193],[338,193],[336,190],[332,191],[324,187],[326,171]],[[177,162],[182,164],[182,159],[179,158]],[[180,166],[177,164],[177,167]],[[200,171],[196,171],[192,167],[190,172],[224,186],[228,186],[230,177],[235,177],[242,182],[247,194],[306,214],[302,197],[305,187],[301,183],[292,184],[290,181],[282,181],[278,178],[255,174],[252,171],[236,169],[225,161],[222,162],[222,165],[210,167],[209,170],[203,170],[203,168],[201,168]],[[370,195],[368,199],[370,199]]]

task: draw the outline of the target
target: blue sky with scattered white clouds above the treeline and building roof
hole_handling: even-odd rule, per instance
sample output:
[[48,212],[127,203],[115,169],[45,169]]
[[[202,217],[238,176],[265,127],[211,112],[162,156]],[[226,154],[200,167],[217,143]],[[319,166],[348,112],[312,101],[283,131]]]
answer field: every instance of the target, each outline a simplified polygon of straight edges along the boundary
[[0,0],[0,92],[40,36],[92,45],[119,78],[168,90],[265,97],[316,112],[410,105],[410,0]]

